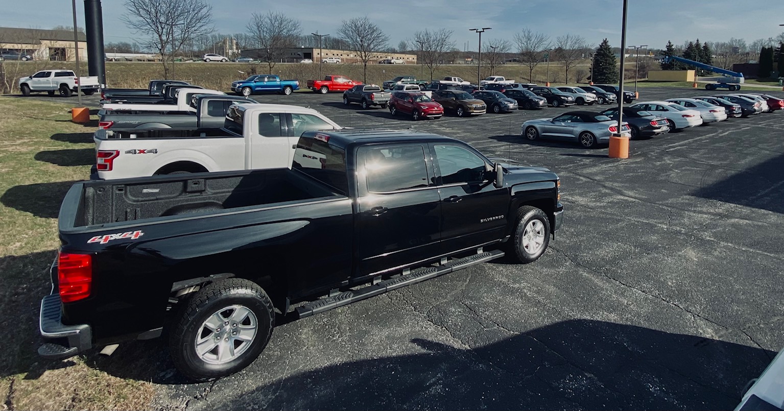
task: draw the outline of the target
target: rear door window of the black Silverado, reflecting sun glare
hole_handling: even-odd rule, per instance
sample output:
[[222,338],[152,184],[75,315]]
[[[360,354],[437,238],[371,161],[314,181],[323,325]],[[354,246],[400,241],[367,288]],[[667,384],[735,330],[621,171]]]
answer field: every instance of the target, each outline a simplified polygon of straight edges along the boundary
[[390,192],[427,187],[422,145],[369,147],[365,151],[368,191]]

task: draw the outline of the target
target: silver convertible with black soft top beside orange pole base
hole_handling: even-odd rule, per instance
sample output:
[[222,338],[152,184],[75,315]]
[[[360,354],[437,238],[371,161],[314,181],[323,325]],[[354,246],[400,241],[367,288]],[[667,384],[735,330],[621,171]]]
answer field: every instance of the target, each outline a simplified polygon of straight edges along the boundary
[[[520,132],[528,140],[543,137],[577,141],[583,147],[593,148],[610,142],[610,135],[618,133],[618,122],[590,111],[568,111],[556,118],[528,120]],[[623,122],[621,133],[630,136],[629,132],[629,123]]]

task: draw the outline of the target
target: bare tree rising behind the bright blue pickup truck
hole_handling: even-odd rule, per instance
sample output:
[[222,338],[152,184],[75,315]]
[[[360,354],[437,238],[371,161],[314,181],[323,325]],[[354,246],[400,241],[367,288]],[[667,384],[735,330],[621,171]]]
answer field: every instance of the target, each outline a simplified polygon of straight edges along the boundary
[[299,20],[272,11],[266,14],[253,13],[246,27],[256,41],[261,60],[267,62],[270,73],[275,63],[283,58],[286,49],[296,47],[296,39],[302,32]]

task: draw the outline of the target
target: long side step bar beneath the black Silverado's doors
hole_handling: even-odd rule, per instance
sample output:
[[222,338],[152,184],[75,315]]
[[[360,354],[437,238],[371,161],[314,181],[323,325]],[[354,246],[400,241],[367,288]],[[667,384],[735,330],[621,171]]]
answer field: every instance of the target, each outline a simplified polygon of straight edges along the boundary
[[336,296],[327,296],[319,300],[311,301],[300,307],[296,307],[296,314],[298,318],[310,317],[310,315],[318,314],[324,311],[332,310],[332,308],[343,307],[354,303],[359,300],[365,300],[372,296],[387,293],[393,289],[411,286],[417,282],[423,282],[430,278],[445,275],[452,271],[457,271],[461,268],[470,267],[474,264],[484,263],[485,261],[495,260],[504,255],[501,250],[488,251],[486,253],[478,253],[473,256],[467,256],[459,260],[450,260],[446,264],[438,267],[422,267],[412,270],[408,274],[401,275],[400,277],[389,278],[383,282],[373,284],[361,289],[347,291],[340,293]]

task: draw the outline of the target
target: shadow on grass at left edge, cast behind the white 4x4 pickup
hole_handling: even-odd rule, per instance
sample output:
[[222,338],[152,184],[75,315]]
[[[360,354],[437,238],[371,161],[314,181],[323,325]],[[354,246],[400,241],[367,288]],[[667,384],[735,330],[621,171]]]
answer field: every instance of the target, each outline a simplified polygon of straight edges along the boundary
[[74,183],[78,181],[11,187],[0,196],[0,202],[6,207],[32,213],[34,216],[57,218],[57,214],[60,213],[60,203]]

